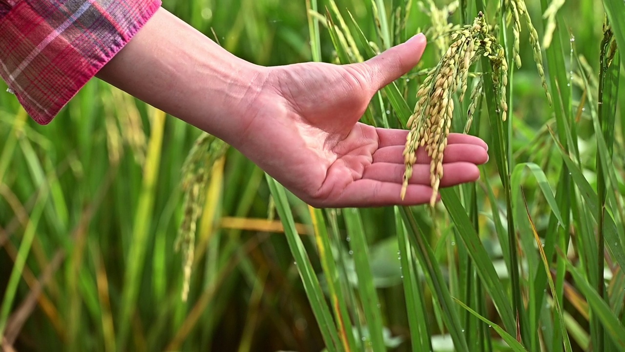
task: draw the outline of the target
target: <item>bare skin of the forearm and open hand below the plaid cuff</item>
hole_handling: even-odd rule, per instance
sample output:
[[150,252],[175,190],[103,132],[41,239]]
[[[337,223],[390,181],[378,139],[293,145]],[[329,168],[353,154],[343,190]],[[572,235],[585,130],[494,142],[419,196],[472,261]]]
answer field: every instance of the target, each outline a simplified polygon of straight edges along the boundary
[[[98,77],[221,138],[314,207],[417,205],[432,195],[427,154],[402,200],[407,131],[358,120],[425,48],[417,34],[364,63],[263,67],[161,8]],[[441,187],[474,182],[487,160],[483,140],[452,133]]]

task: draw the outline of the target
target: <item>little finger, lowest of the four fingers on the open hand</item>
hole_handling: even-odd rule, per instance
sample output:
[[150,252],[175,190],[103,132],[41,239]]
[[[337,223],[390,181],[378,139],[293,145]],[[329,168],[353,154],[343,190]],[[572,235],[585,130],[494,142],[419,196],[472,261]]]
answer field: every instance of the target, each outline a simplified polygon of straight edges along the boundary
[[[426,185],[408,185],[404,199],[400,194],[401,184],[362,179],[349,184],[340,195],[326,200],[322,206],[362,208],[427,204],[432,189]],[[440,196],[437,198],[440,199]]]

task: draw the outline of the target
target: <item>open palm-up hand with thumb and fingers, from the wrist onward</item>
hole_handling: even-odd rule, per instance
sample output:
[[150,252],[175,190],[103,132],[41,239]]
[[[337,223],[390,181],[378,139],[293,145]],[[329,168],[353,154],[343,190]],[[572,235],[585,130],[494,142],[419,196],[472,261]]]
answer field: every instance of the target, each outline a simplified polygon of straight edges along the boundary
[[[237,148],[316,207],[426,204],[432,189],[424,150],[402,200],[407,131],[358,122],[372,96],[411,70],[425,46],[420,34],[365,63],[268,68]],[[441,187],[479,179],[476,165],[487,160],[481,139],[451,134]]]

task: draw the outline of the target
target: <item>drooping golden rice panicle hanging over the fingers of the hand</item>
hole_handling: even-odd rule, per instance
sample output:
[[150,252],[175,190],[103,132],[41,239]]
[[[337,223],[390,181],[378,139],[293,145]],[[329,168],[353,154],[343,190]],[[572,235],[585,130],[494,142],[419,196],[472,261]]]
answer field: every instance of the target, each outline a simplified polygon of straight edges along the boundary
[[[454,112],[454,93],[461,88],[460,101],[467,89],[469,68],[481,56],[487,57],[492,68],[492,83],[499,100],[502,120],[506,120],[507,60],[504,48],[489,33],[484,14],[481,12],[473,24],[466,25],[451,35],[453,43],[442,56],[438,65],[432,68],[417,91],[417,104],[408,119],[410,132],[404,148],[404,182],[402,199],[406,195],[408,180],[412,177],[412,165],[416,162],[416,150],[425,146],[430,164],[430,184],[434,206],[442,178],[442,155],[447,146],[447,136]],[[474,91],[477,95],[479,90]],[[472,95],[472,96],[473,96]]]

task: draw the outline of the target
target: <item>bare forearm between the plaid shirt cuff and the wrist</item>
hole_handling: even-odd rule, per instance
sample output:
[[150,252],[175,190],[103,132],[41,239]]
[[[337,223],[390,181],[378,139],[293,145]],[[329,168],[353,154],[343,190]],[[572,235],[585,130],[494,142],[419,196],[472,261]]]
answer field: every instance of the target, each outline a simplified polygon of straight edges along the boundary
[[97,76],[236,146],[265,71],[161,8]]

